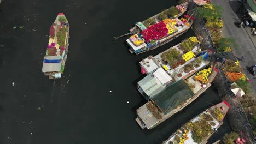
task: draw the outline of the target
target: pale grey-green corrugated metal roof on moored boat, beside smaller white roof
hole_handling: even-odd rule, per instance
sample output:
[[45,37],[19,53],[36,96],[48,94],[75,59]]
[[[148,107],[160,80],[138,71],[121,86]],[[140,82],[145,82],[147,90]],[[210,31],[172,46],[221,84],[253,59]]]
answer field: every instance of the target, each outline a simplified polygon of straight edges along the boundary
[[150,73],[144,79],[138,82],[138,85],[143,91],[150,97],[164,89],[165,87],[161,83],[157,83],[154,75]]

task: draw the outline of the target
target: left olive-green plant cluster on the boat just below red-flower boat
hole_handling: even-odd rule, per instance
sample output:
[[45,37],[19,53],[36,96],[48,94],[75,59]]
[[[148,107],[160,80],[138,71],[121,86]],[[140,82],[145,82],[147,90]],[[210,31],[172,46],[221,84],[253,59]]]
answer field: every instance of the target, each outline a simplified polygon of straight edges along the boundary
[[164,61],[168,62],[169,64],[173,64],[174,60],[177,60],[181,56],[181,53],[176,49],[171,49],[169,51],[166,51],[162,53],[161,58],[164,59]]

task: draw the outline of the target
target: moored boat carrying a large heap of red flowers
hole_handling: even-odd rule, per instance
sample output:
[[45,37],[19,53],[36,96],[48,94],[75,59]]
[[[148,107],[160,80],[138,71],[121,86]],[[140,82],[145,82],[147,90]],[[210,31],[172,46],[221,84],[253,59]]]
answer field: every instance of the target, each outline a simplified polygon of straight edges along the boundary
[[126,39],[130,47],[129,51],[138,55],[167,44],[187,32],[193,24],[193,20],[192,16],[184,15],[184,18],[181,19],[165,19],[150,25],[143,31],[138,31],[129,39]]

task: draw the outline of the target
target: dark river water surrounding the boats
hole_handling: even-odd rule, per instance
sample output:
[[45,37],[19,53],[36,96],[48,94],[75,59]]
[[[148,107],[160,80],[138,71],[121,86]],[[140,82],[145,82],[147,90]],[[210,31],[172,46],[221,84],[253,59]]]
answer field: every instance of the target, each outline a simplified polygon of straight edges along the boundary
[[[0,143],[161,143],[209,103],[217,104],[220,98],[211,87],[153,130],[141,130],[135,122],[135,110],[146,103],[136,89],[136,82],[145,76],[138,62],[194,33],[190,29],[138,56],[129,53],[127,37],[113,38],[171,5],[177,2],[2,0]],[[65,75],[49,80],[42,63],[49,28],[58,13],[65,13],[71,26],[70,46]],[[226,131],[230,128],[225,120],[209,143]]]

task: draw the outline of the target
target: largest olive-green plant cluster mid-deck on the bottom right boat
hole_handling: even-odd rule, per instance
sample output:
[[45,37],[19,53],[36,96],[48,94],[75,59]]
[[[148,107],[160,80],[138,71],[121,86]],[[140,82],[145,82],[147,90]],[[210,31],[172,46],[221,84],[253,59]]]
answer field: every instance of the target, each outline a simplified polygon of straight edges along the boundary
[[211,125],[203,119],[188,123],[188,128],[192,131],[192,138],[196,143],[201,143],[212,131]]

